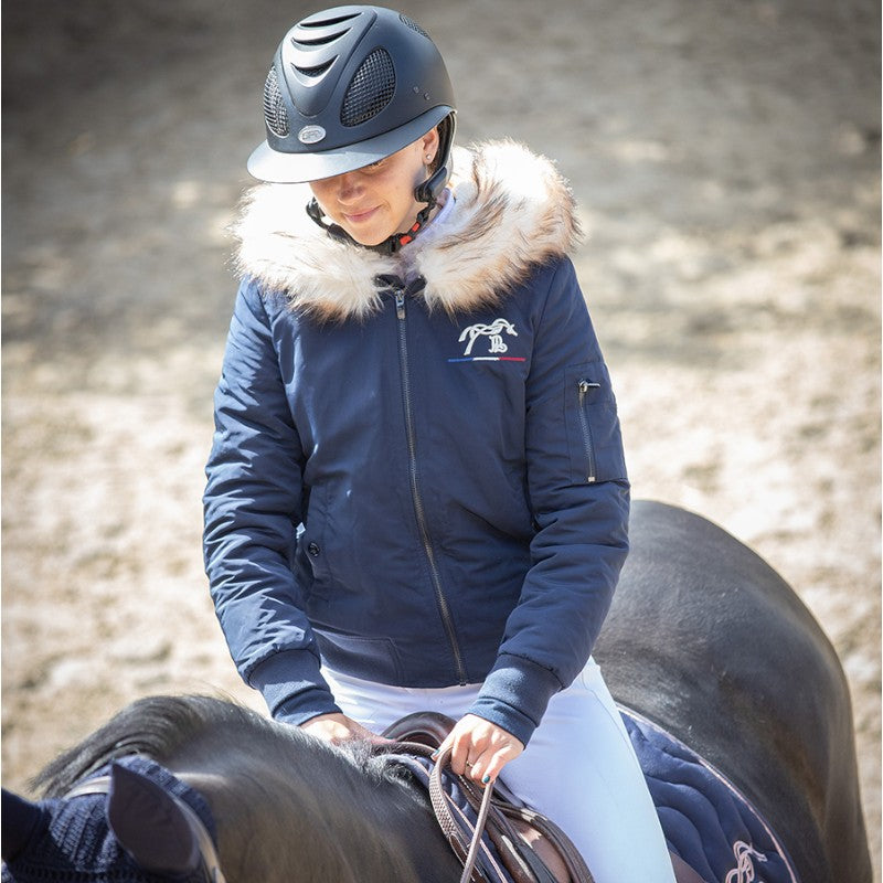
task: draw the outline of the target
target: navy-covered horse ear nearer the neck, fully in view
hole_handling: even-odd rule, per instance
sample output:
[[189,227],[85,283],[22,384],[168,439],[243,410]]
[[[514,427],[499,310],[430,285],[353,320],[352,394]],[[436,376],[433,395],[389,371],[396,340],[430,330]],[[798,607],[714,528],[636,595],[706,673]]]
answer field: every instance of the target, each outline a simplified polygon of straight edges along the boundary
[[196,836],[172,795],[134,769],[114,764],[107,823],[146,871],[188,874],[199,868]]

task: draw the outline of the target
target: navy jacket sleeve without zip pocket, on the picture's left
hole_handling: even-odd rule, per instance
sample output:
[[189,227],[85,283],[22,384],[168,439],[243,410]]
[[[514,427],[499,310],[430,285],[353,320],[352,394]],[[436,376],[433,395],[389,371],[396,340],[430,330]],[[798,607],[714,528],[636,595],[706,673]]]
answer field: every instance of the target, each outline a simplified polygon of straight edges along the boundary
[[221,628],[240,674],[274,717],[339,711],[291,568],[302,460],[257,287],[243,283],[215,392],[203,550]]

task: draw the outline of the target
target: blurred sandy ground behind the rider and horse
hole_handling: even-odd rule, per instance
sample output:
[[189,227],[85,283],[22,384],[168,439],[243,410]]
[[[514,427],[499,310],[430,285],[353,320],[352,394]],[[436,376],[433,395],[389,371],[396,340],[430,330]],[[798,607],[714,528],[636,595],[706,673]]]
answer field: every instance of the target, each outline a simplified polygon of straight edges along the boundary
[[[797,588],[849,675],[880,880],[880,10],[403,3],[460,140],[557,159],[637,497]],[[224,233],[287,26],[269,0],[3,10],[2,760],[240,685],[202,574]],[[776,677],[770,672],[770,677]]]

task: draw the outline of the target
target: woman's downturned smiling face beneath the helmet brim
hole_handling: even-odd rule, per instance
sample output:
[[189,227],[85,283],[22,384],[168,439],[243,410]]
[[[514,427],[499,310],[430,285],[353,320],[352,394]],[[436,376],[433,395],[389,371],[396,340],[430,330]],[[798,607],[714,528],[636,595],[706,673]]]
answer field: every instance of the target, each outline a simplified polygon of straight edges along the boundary
[[424,208],[414,189],[427,175],[438,151],[438,130],[386,159],[354,172],[310,183],[322,211],[362,245],[377,245],[394,233],[406,233]]

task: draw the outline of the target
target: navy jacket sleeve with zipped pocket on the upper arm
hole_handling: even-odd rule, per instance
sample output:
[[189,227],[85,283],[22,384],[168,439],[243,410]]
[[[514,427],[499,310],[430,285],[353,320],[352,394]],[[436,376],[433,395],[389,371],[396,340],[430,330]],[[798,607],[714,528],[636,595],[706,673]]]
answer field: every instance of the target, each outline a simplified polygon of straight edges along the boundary
[[523,743],[588,660],[628,552],[629,514],[616,401],[568,259],[535,322],[525,415],[531,568],[470,709]]

